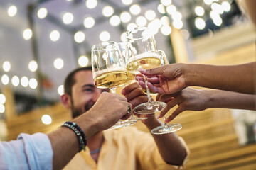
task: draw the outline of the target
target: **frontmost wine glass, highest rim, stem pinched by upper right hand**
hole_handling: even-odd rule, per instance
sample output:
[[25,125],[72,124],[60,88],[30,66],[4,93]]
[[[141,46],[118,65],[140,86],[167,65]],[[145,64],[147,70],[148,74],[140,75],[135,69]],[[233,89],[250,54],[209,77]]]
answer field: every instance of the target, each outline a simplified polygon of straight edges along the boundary
[[[127,32],[127,72],[138,74],[139,68],[152,69],[161,65],[161,57],[156,48],[154,35],[146,27],[136,27]],[[145,83],[147,83],[147,77]],[[142,103],[134,108],[138,114],[153,114],[163,110],[166,103],[151,101],[149,88],[146,86],[148,102]]]

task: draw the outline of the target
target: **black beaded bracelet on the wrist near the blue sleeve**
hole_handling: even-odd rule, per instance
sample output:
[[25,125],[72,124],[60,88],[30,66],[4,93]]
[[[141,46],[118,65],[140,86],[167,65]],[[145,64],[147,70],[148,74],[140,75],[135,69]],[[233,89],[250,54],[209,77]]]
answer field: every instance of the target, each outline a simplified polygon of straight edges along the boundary
[[85,146],[87,145],[87,140],[85,137],[85,133],[81,130],[81,128],[76,123],[73,123],[73,122],[65,122],[62,126],[70,128],[75,132],[75,135],[77,135],[78,142],[80,145],[79,152],[81,150],[85,150]]

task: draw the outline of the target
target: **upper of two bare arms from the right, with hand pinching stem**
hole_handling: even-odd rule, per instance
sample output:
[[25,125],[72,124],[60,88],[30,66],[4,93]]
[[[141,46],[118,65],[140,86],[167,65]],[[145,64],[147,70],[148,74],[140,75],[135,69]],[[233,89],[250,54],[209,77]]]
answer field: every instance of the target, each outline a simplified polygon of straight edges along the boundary
[[[178,63],[140,71],[150,77],[149,89],[159,94],[174,94],[187,86],[255,94],[255,63],[230,66]],[[146,88],[142,76],[138,74],[135,78]]]

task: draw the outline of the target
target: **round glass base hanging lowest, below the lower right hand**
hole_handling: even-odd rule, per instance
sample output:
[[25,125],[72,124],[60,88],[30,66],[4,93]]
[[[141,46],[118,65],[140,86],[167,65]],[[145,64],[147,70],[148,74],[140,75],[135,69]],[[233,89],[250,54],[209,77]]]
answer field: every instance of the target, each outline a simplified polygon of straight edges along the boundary
[[181,124],[167,124],[161,125],[151,130],[151,133],[154,135],[162,135],[170,132],[176,132],[182,128]]

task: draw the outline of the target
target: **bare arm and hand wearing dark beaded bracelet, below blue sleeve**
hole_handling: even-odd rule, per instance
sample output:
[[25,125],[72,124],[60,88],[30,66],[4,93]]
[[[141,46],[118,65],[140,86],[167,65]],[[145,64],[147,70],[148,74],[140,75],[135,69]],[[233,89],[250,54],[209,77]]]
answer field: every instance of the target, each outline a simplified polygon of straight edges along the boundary
[[[128,106],[131,104],[123,96],[103,92],[90,111],[72,121],[80,126],[88,140],[96,132],[117,123],[127,113]],[[65,127],[49,133],[48,137],[53,147],[53,169],[63,169],[78,152],[78,137],[73,130]]]

